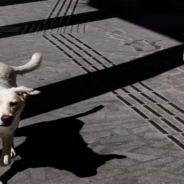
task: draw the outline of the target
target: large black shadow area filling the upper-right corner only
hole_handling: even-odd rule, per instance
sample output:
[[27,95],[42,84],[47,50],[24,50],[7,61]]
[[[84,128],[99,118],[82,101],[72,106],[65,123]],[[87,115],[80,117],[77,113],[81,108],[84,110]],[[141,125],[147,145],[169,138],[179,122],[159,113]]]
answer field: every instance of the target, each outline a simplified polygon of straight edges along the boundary
[[[140,0],[140,3],[142,10],[138,4],[130,5],[125,0],[91,0],[89,5],[132,24],[183,41],[184,1]],[[132,6],[131,9],[130,6]],[[152,13],[147,13],[150,11]]]

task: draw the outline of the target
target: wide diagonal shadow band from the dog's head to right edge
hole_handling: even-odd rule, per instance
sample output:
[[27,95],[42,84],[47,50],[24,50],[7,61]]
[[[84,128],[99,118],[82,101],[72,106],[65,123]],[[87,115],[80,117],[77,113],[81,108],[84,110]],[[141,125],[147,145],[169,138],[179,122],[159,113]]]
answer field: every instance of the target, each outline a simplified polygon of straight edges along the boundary
[[[28,98],[21,119],[59,109],[152,78],[183,65],[183,45],[117,65],[121,80],[109,73],[116,67],[84,74],[37,88],[42,93]],[[173,59],[175,57],[176,59]],[[103,77],[105,74],[108,79]],[[97,79],[97,80],[94,80]],[[114,83],[110,82],[111,79]],[[116,85],[116,84],[117,85]],[[36,108],[35,108],[36,107]]]

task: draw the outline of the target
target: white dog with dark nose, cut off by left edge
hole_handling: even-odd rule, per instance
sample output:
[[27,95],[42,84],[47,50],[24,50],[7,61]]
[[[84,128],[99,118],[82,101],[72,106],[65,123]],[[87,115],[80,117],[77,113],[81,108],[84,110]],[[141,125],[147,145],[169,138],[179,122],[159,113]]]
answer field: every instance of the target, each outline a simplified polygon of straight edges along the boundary
[[22,66],[15,67],[0,63],[0,137],[3,144],[1,166],[9,165],[11,157],[16,154],[13,147],[14,131],[19,124],[26,97],[40,93],[24,86],[17,87],[16,75],[38,68],[41,60],[41,54],[35,53],[31,60]]

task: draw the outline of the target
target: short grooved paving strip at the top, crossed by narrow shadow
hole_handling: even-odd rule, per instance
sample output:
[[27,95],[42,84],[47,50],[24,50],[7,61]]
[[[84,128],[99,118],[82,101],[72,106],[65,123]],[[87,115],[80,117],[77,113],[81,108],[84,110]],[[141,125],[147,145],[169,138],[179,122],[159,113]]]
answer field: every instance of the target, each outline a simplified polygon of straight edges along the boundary
[[79,31],[79,25],[68,26],[72,15],[76,10],[79,0],[58,0],[51,9],[48,17],[43,24],[26,24],[21,28],[20,34],[46,34],[46,33],[72,33],[73,28],[77,27],[77,33]]

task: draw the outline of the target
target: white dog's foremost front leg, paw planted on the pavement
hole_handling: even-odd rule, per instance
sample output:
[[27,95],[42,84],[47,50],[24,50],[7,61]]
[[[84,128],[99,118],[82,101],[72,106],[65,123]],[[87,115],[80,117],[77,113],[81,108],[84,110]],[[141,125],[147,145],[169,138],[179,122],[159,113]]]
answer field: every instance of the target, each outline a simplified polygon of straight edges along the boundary
[[13,134],[4,135],[1,138],[3,143],[3,152],[0,160],[0,165],[7,166],[11,163],[11,148],[13,143]]

